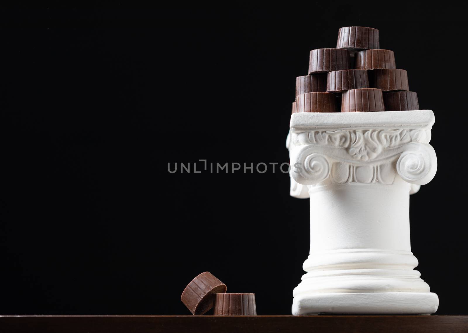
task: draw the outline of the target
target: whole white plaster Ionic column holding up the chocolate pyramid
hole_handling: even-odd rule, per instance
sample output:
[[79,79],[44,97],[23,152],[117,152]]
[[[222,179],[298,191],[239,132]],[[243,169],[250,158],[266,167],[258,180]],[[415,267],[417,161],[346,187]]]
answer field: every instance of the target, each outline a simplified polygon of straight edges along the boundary
[[433,123],[431,110],[292,115],[291,194],[308,188],[311,233],[293,314],[437,310],[409,239],[409,194],[437,170]]

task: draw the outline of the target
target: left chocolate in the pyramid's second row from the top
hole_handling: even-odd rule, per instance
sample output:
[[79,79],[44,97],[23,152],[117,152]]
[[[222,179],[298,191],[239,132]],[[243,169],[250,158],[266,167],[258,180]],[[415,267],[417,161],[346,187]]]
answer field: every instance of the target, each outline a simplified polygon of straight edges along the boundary
[[316,49],[310,51],[309,74],[350,69],[350,51],[344,49]]

